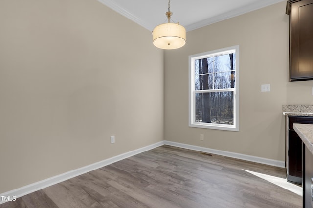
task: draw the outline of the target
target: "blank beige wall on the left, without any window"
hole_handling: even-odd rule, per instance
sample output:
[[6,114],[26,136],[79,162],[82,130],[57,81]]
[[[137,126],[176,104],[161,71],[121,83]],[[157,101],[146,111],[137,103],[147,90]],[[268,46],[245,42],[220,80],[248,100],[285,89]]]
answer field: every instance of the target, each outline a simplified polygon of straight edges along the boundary
[[96,0],[1,0],[0,193],[162,141],[163,69]]

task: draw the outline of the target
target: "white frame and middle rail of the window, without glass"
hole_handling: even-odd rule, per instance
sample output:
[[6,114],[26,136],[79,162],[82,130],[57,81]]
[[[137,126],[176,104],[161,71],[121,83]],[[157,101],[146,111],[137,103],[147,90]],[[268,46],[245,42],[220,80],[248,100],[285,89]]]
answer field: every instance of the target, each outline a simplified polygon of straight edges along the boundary
[[[233,91],[234,92],[234,124],[228,125],[228,124],[196,122],[195,61],[202,59],[202,58],[221,56],[221,55],[230,54],[230,53],[236,53],[235,88],[230,88],[226,90],[225,89],[201,90],[201,92],[207,93],[207,92]],[[239,45],[189,56],[189,127],[228,130],[228,131],[237,131],[237,132],[239,131]]]

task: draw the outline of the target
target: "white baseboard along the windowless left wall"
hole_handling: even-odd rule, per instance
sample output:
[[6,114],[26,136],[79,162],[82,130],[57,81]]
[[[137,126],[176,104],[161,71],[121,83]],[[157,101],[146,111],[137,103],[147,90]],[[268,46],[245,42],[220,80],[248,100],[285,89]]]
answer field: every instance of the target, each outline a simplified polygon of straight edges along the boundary
[[[5,193],[0,193],[0,196],[1,196],[0,197],[0,204],[7,202],[4,200],[4,197],[7,199],[11,199],[11,200],[14,198],[19,198],[19,197],[22,197],[26,194],[35,192],[35,191],[40,190],[40,189],[44,189],[46,187],[52,186],[54,184],[57,184],[57,183],[60,183],[62,181],[68,180],[70,178],[76,177],[78,175],[84,174],[86,172],[90,172],[92,170],[102,168],[104,166],[110,165],[110,164],[115,163],[117,161],[126,159],[128,157],[134,156],[134,155],[139,154],[139,153],[144,152],[144,151],[154,149],[154,148],[162,146],[162,145],[164,145],[164,141],[160,141],[160,142],[157,142],[155,144],[136,149],[134,151],[129,151],[129,152],[117,155],[115,157],[111,157],[111,158],[108,158],[106,160],[102,160],[100,162],[90,164],[90,165],[82,167],[82,168],[71,170],[71,171],[62,173],[60,175],[56,175],[56,176],[53,176],[51,178],[47,178],[47,179],[42,180],[42,181],[38,181],[36,183],[29,184],[27,186],[24,186],[24,187],[21,187],[18,189],[10,190],[10,191],[5,192]],[[3,200],[2,200],[2,198],[3,198]]]

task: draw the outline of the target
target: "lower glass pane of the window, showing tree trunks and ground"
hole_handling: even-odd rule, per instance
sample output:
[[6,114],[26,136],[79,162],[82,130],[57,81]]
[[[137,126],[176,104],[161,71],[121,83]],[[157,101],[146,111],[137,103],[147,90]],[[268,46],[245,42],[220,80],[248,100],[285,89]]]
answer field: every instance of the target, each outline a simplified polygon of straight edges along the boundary
[[196,122],[234,124],[234,92],[196,93]]

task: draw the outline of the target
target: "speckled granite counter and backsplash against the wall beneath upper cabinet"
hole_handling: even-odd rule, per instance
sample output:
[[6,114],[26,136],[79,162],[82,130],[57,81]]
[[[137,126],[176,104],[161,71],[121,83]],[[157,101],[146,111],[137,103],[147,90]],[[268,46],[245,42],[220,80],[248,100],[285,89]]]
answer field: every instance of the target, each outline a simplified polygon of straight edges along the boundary
[[283,115],[313,116],[313,105],[283,105]]

